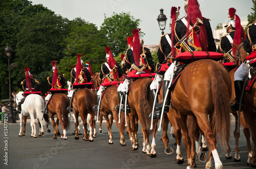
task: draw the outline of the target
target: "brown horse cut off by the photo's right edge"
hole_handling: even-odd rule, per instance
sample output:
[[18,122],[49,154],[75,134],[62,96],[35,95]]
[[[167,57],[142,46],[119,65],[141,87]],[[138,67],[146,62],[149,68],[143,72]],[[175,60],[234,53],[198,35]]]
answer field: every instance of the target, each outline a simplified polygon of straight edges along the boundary
[[[245,58],[248,56],[247,52],[244,50],[243,48],[243,43],[240,45],[236,45],[236,44],[232,44],[232,46],[234,46],[235,48],[237,48],[237,58],[238,64],[241,64]],[[247,146],[248,146],[248,160],[247,163],[250,164],[252,167],[256,167],[256,114],[255,114],[255,110],[256,110],[256,103],[254,102],[256,98],[256,83],[253,84],[252,88],[250,91],[246,91],[244,92],[244,107],[243,107],[243,111],[241,111],[241,116],[243,115],[245,122],[248,124],[248,126],[250,127],[250,131],[251,131],[251,138],[252,138],[252,142],[254,144],[254,149],[253,149],[253,153],[250,150],[250,142],[249,142],[249,136],[250,134],[249,129],[246,126],[246,123],[243,122],[243,119],[240,119],[240,122],[242,124],[242,126],[244,127],[244,133],[247,133],[246,135],[246,140],[247,140]],[[240,117],[241,117],[240,116]],[[236,132],[236,131],[234,131]],[[238,135],[240,135],[239,133],[237,133]],[[237,149],[236,149],[237,151]]]

